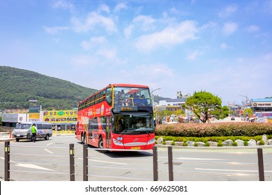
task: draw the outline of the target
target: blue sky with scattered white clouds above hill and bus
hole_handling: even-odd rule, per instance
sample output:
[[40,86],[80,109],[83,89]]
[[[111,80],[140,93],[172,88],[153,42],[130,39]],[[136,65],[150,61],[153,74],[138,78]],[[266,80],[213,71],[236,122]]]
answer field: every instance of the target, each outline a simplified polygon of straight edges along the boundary
[[1,0],[0,45],[0,65],[90,88],[272,96],[272,0]]

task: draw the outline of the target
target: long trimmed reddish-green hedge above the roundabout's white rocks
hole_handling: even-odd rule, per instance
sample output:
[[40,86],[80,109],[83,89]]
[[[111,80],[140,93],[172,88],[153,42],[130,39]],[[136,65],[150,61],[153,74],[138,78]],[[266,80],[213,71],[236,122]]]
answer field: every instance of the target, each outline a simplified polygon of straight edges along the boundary
[[272,134],[272,123],[176,123],[157,125],[155,134],[172,137],[255,137]]

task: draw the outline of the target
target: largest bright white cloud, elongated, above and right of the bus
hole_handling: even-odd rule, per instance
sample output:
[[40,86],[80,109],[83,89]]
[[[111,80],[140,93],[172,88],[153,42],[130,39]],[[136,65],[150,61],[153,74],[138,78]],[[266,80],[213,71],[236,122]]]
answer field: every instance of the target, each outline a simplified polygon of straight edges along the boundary
[[135,46],[143,52],[151,52],[157,47],[179,45],[186,40],[195,40],[198,29],[194,21],[187,20],[176,26],[168,26],[163,31],[144,35],[136,39]]

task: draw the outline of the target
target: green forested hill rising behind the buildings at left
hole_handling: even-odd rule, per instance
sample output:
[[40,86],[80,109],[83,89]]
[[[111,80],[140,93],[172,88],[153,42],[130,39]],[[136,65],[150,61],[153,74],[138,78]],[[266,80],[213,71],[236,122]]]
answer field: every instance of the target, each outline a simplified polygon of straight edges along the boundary
[[73,109],[97,90],[37,72],[0,65],[0,109],[28,109],[38,100],[43,109]]

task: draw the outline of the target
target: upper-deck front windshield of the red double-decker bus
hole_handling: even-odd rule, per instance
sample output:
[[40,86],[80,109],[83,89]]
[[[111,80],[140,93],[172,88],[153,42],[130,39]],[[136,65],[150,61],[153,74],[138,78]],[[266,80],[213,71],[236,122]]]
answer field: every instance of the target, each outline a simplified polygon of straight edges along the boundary
[[114,87],[114,106],[151,107],[149,88]]

